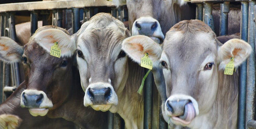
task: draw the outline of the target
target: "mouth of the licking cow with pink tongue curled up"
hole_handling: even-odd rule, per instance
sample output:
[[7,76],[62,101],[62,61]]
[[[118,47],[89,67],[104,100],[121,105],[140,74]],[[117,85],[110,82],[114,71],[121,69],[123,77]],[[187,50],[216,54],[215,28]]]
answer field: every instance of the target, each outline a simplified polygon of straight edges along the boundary
[[184,114],[182,116],[172,116],[172,120],[188,125],[196,117],[196,111],[193,104],[190,102],[185,105]]

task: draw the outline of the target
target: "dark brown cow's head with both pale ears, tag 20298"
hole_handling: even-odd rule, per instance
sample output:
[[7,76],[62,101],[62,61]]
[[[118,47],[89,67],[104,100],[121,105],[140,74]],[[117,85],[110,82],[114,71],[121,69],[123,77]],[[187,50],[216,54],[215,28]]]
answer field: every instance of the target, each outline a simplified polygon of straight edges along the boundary
[[[54,42],[61,49],[60,58],[50,55]],[[26,90],[21,94],[20,105],[29,108],[31,115],[44,116],[65,101],[72,86],[75,49],[68,32],[55,26],[39,28],[25,46],[0,37],[1,60],[23,63]]]

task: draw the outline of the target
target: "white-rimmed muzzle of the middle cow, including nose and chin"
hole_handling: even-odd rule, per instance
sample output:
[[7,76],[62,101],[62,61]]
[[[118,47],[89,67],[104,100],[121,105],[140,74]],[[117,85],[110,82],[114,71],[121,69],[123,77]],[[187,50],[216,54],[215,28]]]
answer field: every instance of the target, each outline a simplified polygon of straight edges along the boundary
[[107,111],[112,105],[118,104],[118,98],[113,86],[108,83],[93,83],[85,90],[84,106],[94,110]]

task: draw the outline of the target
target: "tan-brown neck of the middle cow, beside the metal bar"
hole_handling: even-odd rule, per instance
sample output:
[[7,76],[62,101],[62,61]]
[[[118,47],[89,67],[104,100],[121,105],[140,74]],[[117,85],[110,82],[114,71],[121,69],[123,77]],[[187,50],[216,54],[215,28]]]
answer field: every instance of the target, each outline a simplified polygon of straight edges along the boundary
[[124,120],[127,129],[143,128],[144,97],[137,93],[145,68],[128,59],[129,75],[122,92],[118,94],[118,105],[111,112],[117,112]]

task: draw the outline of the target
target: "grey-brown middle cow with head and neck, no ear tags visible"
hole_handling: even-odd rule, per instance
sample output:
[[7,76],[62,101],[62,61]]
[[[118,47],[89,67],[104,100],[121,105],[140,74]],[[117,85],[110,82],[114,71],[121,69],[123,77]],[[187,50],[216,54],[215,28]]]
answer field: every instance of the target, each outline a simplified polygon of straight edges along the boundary
[[129,31],[110,14],[98,13],[76,35],[84,106],[117,112],[127,129],[143,129],[144,97],[137,90],[145,69],[121,50],[121,42],[130,36]]

